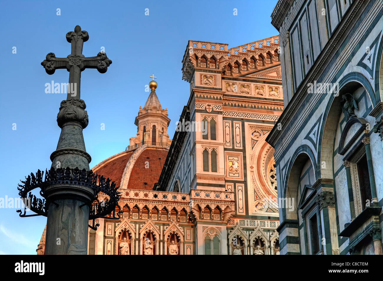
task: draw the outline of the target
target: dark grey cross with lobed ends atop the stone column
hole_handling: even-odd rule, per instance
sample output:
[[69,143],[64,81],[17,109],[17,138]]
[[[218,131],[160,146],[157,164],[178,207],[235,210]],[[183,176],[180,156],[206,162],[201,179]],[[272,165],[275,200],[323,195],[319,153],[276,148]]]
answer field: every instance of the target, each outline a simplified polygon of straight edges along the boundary
[[70,55],[66,58],[56,58],[54,53],[49,53],[41,65],[49,75],[53,74],[56,69],[66,68],[69,71],[69,86],[74,87],[75,85],[75,95],[70,93],[68,87],[67,100],[79,100],[81,71],[85,68],[97,68],[98,72],[105,73],[112,61],[106,57],[105,52],[99,52],[96,57],[85,57],[82,54],[83,43],[88,41],[89,35],[87,31],[82,31],[79,25],[74,28],[74,32],[68,32],[66,37],[67,41],[72,44]]

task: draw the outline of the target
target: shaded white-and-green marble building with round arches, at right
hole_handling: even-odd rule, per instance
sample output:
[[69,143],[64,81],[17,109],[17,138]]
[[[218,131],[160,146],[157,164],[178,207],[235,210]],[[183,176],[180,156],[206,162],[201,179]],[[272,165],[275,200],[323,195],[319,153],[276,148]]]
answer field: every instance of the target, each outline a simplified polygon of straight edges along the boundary
[[[381,0],[279,0],[280,254],[382,254]],[[295,202],[295,208],[288,208]]]

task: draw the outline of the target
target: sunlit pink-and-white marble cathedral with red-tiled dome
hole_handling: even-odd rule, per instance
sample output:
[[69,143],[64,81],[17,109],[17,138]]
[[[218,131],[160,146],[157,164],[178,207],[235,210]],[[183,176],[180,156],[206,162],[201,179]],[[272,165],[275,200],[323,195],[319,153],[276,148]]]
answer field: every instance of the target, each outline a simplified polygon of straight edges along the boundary
[[117,182],[122,214],[89,228],[89,254],[279,254],[274,149],[265,141],[283,111],[278,40],[189,41],[182,72],[190,93],[173,140],[149,83],[137,135],[92,169]]

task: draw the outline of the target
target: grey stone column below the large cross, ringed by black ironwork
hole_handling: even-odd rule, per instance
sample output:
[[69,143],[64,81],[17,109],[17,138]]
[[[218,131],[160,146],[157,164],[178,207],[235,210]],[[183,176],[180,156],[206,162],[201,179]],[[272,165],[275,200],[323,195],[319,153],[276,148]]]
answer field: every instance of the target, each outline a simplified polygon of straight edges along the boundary
[[[61,128],[51,169],[69,167],[89,171],[90,155],[82,135],[88,115],[82,100],[62,101],[57,124]],[[45,190],[47,212],[46,254],[87,254],[89,206],[93,191],[79,185],[50,185]]]

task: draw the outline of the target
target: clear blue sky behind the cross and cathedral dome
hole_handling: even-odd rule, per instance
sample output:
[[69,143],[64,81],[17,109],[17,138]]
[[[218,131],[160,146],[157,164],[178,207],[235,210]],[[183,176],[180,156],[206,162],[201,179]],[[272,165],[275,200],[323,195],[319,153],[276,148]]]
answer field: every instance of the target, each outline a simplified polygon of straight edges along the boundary
[[[157,76],[157,96],[168,109],[169,136],[175,132],[190,94],[182,80],[188,40],[227,43],[229,48],[278,34],[270,15],[277,0],[250,1],[8,1],[2,2],[3,54],[0,103],[0,198],[17,198],[20,179],[51,166],[61,129],[56,116],[66,94],[45,93],[45,83],[67,83],[69,72],[47,75],[40,63],[49,52],[70,54],[65,39],[79,24],[89,33],[86,57],[101,47],[113,61],[105,74],[82,72],[81,98],[89,125],[83,131],[90,167],[125,150],[135,136],[134,118]],[[57,8],[61,15],[57,14]],[[149,16],[145,9],[149,9]],[[237,16],[233,9],[237,9]],[[16,47],[16,54],[12,53]],[[16,123],[16,130],[13,123]],[[105,130],[101,130],[105,123]],[[42,216],[20,218],[0,208],[0,254],[36,254],[46,224]]]

